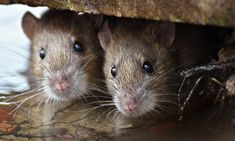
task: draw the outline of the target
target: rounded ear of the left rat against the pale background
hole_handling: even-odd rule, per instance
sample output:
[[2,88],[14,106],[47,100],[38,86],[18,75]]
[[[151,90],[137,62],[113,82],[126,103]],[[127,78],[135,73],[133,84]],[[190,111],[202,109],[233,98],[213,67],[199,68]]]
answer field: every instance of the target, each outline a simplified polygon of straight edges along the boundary
[[35,29],[37,28],[37,24],[39,19],[37,19],[30,12],[26,12],[22,18],[22,28],[26,36],[32,40],[34,36]]

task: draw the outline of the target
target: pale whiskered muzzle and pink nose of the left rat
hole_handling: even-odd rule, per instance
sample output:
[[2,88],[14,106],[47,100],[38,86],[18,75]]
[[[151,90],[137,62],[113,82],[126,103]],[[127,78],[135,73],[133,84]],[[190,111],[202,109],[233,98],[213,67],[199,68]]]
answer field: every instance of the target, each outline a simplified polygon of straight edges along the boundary
[[70,101],[82,98],[88,93],[88,79],[83,72],[77,72],[70,69],[69,72],[55,72],[53,75],[48,75],[45,72],[42,86],[45,86],[44,93],[51,99],[59,101]]

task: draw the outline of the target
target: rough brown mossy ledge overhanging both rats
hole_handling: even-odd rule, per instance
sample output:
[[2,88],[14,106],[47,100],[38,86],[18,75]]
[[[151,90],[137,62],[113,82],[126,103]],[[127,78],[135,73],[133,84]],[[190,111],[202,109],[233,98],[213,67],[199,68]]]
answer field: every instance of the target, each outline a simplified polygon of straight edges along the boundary
[[235,26],[234,0],[1,0],[87,13],[195,24]]

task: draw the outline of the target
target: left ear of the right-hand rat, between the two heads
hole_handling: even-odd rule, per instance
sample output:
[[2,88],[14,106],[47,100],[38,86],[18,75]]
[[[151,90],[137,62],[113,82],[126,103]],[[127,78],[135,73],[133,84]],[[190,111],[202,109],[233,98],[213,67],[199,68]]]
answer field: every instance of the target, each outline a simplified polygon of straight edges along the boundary
[[100,29],[99,33],[98,33],[98,38],[100,41],[100,45],[101,47],[106,50],[107,47],[110,45],[111,43],[111,30],[109,28],[109,24],[108,21],[105,21],[103,27]]

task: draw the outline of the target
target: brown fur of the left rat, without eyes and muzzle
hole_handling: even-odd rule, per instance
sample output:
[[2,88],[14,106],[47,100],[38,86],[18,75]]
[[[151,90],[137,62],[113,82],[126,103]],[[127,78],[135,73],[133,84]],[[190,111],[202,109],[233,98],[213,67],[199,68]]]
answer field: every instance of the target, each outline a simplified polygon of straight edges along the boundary
[[[95,18],[94,16],[94,20]],[[76,67],[75,70],[83,69],[87,76],[84,80],[88,84],[85,94],[94,90],[91,88],[91,84],[97,88],[99,85],[102,86],[102,49],[97,39],[97,27],[91,17],[77,15],[72,11],[50,9],[40,19],[26,13],[23,17],[22,27],[32,44],[30,70],[34,76],[33,81],[46,78],[47,71],[52,75],[57,71],[69,75],[67,72],[69,67]],[[83,46],[82,53],[74,51],[75,41],[79,41]],[[39,56],[42,48],[46,50],[46,57],[43,60]],[[71,77],[71,79],[76,81],[76,78]],[[71,83],[73,81],[71,80]],[[40,86],[42,83],[36,87]],[[64,96],[65,99],[71,97]]]

